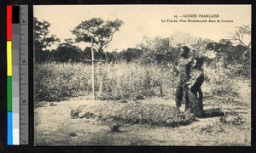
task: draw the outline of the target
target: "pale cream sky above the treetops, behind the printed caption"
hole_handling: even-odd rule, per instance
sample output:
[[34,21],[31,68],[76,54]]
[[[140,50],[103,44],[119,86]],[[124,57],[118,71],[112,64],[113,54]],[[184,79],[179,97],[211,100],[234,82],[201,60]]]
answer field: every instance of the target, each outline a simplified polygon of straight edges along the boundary
[[[34,17],[47,20],[49,31],[64,42],[75,38],[71,30],[83,20],[123,20],[124,25],[113,35],[105,50],[121,51],[135,48],[143,37],[170,37],[183,32],[192,37],[209,38],[218,42],[228,38],[237,26],[251,24],[251,5],[35,5]],[[188,16],[189,17],[185,17]],[[191,17],[192,14],[194,18]],[[218,18],[200,18],[200,14],[218,14]],[[177,18],[174,16],[177,15]],[[164,20],[177,22],[164,22]],[[220,20],[220,22],[182,22],[181,20]],[[233,20],[233,22],[221,22]],[[247,38],[247,42],[250,38]],[[85,48],[86,43],[79,43]]]

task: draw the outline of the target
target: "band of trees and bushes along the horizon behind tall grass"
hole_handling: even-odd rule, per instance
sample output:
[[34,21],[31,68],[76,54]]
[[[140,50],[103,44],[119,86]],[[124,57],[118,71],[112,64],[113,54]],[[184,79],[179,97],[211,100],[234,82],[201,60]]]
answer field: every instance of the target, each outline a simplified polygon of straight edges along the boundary
[[[245,37],[251,36],[250,26],[236,27],[230,39],[214,42],[210,39],[192,37],[188,33],[176,32],[171,37],[143,37],[137,48],[127,48],[119,53],[103,53],[103,48],[111,42],[113,33],[119,31],[124,23],[121,20],[104,21],[93,18],[82,21],[73,29],[75,42],[90,42],[93,38],[95,59],[106,59],[108,63],[122,61],[143,65],[177,65],[181,47],[189,46],[192,57],[203,57],[205,65],[213,69],[224,68],[230,70],[233,77],[251,76],[251,42],[245,42]],[[49,22],[38,21],[34,18],[35,59],[36,62],[86,62],[91,59],[91,48],[86,47],[84,52],[71,39],[59,44],[52,52],[47,50],[59,40],[54,35],[49,36]],[[212,56],[212,57],[210,57]]]

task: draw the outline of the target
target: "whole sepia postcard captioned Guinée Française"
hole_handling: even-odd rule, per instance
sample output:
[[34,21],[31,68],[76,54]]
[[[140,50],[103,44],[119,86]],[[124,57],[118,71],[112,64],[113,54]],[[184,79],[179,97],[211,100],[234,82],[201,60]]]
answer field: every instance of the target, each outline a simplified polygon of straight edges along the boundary
[[35,146],[251,146],[251,5],[34,5]]

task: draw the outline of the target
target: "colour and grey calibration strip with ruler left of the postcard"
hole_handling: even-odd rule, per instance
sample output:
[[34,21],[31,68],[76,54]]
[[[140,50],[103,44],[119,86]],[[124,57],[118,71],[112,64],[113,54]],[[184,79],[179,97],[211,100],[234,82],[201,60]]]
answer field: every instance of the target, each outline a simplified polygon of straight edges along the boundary
[[27,5],[7,6],[8,144],[28,144]]

